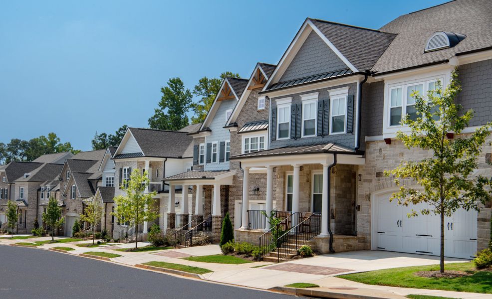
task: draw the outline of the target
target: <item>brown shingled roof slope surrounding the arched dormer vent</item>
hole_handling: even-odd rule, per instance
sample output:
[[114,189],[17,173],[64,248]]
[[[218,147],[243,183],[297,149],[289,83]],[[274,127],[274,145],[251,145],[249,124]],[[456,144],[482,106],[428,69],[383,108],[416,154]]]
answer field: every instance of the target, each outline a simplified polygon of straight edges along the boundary
[[[439,63],[462,52],[491,47],[491,16],[490,0],[456,0],[404,14],[380,28],[397,35],[372,69],[384,73]],[[436,31],[467,37],[454,47],[425,53],[427,39]]]

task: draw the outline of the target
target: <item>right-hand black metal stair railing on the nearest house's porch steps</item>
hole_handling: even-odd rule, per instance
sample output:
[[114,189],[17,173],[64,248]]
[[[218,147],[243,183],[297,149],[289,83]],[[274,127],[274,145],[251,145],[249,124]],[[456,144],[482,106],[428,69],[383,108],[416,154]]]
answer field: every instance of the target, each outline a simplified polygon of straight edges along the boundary
[[321,213],[300,217],[299,222],[276,240],[277,263],[297,251],[307,241],[321,232]]

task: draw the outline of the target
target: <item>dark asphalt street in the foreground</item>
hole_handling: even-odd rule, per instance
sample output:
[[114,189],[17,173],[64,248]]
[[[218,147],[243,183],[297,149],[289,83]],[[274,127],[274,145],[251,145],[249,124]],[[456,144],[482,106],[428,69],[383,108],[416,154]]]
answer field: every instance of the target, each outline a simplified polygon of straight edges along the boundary
[[47,250],[0,245],[0,299],[287,299]]

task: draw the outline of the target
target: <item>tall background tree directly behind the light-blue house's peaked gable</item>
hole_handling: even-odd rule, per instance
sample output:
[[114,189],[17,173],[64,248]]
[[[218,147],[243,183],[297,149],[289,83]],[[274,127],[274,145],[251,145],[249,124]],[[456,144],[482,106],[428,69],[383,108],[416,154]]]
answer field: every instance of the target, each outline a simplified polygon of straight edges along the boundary
[[195,112],[195,116],[191,118],[193,124],[202,123],[207,116],[214,99],[219,93],[222,81],[226,78],[241,78],[239,74],[232,72],[222,73],[219,78],[207,78],[202,77],[198,81],[198,85],[195,85],[193,94],[201,99],[197,103],[192,103],[191,108]]

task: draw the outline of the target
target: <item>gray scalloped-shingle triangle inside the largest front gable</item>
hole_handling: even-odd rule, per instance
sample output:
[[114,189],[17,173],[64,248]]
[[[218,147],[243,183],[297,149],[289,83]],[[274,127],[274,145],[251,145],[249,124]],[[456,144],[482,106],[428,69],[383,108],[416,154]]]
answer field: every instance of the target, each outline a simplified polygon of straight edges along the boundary
[[347,68],[321,37],[312,31],[283,73],[280,82]]

